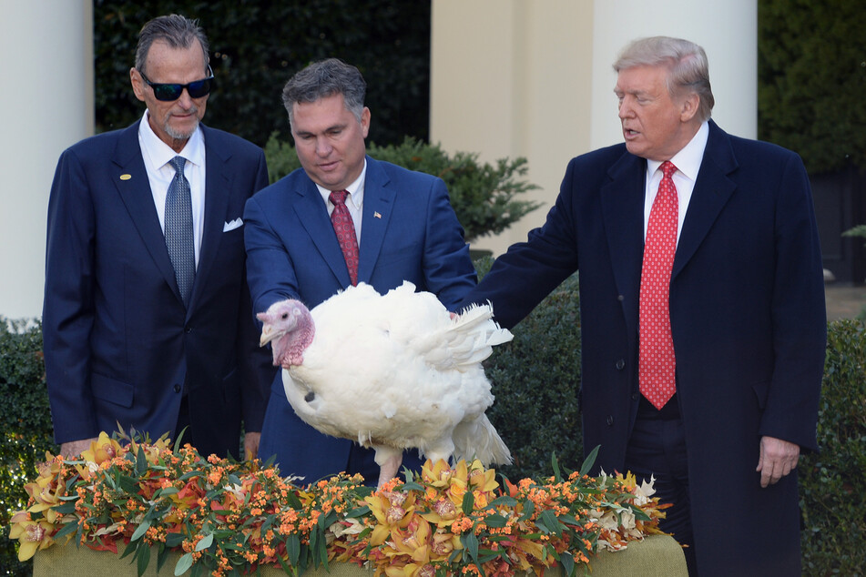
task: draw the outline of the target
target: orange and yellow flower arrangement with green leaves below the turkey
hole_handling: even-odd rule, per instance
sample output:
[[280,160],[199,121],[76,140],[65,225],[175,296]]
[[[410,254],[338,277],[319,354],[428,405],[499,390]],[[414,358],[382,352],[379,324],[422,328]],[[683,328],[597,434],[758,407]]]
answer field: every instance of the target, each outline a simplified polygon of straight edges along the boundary
[[[123,441],[123,442],[121,442]],[[376,575],[514,575],[587,567],[660,532],[667,505],[631,475],[496,481],[480,462],[427,461],[378,491],[345,474],[298,487],[260,461],[205,459],[189,445],[102,433],[77,460],[46,455],[12,518],[24,561],[55,542],[134,555],[139,574],[157,552],[182,552],[174,574],[236,575],[276,566],[350,562]],[[120,547],[123,551],[120,551]]]

